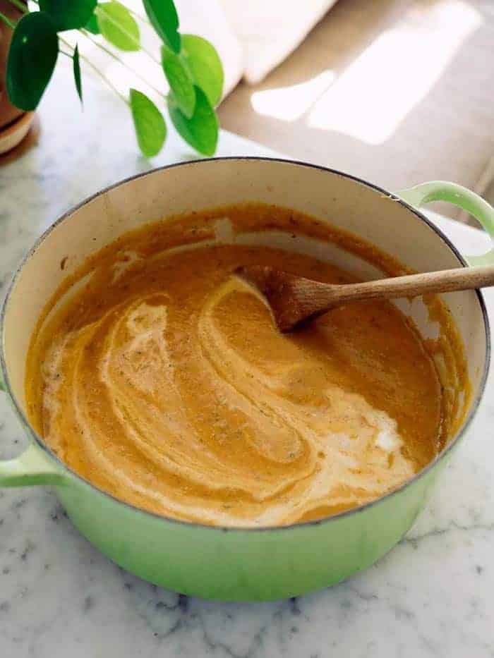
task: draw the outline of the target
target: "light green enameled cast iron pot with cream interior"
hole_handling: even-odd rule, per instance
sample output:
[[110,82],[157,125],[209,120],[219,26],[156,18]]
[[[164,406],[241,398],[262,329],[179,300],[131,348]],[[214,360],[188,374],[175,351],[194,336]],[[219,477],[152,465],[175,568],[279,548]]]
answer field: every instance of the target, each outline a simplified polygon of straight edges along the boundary
[[[220,158],[169,166],[83,202],[56,221],[25,257],[2,309],[4,388],[30,447],[20,457],[0,463],[0,485],[53,485],[74,525],[95,547],[141,578],[187,595],[230,600],[291,597],[370,566],[409,530],[478,406],[489,362],[488,319],[480,293],[444,296],[462,336],[473,388],[467,418],[449,446],[421,473],[379,500],[287,528],[212,528],[164,518],[83,480],[30,427],[24,396],[26,352],[44,304],[88,255],[121,233],[191,210],[243,201],[290,207],[356,233],[418,272],[494,262],[494,251],[462,257],[418,212],[423,202],[432,200],[469,210],[494,234],[493,209],[458,185],[426,183],[392,195],[338,171],[278,159]],[[272,236],[275,239],[279,244],[282,238]],[[294,243],[299,240],[291,240],[291,250]],[[314,246],[301,240],[297,249],[311,252]],[[319,249],[318,257],[346,265],[363,278],[379,276],[368,263],[334,245]],[[427,334],[431,327],[424,317],[427,314],[418,312],[416,322]]]

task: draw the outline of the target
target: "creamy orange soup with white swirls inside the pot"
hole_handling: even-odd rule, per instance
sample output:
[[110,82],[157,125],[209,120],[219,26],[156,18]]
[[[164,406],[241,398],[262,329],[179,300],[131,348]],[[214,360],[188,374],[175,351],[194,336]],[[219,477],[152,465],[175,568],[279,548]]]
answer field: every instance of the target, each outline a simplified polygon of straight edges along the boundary
[[[230,276],[236,267],[353,279],[247,234],[263,216],[270,225],[256,229],[290,227],[296,240],[315,236],[314,220],[255,206],[213,215],[232,224],[195,215],[125,236],[68,281],[91,273],[61,309],[47,308],[27,375],[44,440],[123,501],[213,525],[320,518],[401,485],[452,424],[457,396],[442,394],[432,356],[440,343],[375,300],[279,334],[263,299]],[[234,244],[213,245],[215,226]],[[370,248],[363,256],[399,269]]]

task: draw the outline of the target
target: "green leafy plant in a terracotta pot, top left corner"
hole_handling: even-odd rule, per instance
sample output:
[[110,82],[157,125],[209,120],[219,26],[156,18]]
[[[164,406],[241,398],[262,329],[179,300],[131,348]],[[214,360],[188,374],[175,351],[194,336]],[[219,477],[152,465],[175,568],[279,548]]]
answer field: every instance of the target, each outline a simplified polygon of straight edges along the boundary
[[[161,42],[159,56],[141,44],[140,23],[148,23],[157,33]],[[67,30],[78,30],[81,39],[93,42],[143,80],[145,87],[154,90],[183,140],[200,154],[215,153],[215,106],[222,96],[222,63],[207,39],[181,34],[173,0],[143,0],[143,13],[132,11],[117,0],[37,0],[33,11],[23,0],[0,0],[0,25],[0,126],[2,121],[4,125],[19,121],[25,113],[32,116],[59,56],[63,55],[72,59],[74,85],[81,102],[80,66],[86,63],[129,106],[137,142],[145,157],[159,153],[167,137],[162,110],[143,90],[131,88],[127,94],[116,90],[112,81],[80,54],[78,42],[73,46],[64,35]],[[169,92],[165,94],[153,87],[140,71],[131,68],[114,49],[107,48],[104,40],[120,51],[142,50],[162,67]]]

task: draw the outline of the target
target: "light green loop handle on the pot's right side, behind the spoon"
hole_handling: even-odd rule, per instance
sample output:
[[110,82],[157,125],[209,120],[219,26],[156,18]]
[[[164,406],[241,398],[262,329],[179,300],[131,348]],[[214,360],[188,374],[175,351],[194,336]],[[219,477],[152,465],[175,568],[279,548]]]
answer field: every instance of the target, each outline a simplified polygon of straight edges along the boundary
[[[430,201],[447,201],[472,214],[482,224],[490,238],[494,240],[494,209],[478,194],[447,181],[430,181],[401,190],[397,196],[415,207]],[[470,265],[491,265],[494,262],[494,248],[481,256],[466,256]]]

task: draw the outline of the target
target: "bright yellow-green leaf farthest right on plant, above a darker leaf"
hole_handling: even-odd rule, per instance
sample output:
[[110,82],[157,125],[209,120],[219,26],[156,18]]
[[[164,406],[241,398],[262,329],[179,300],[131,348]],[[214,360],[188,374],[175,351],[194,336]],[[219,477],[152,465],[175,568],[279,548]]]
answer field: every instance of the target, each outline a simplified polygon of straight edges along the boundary
[[182,35],[182,54],[191,70],[195,84],[200,87],[212,106],[219,103],[223,93],[223,66],[215,47],[197,35]]

